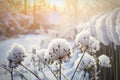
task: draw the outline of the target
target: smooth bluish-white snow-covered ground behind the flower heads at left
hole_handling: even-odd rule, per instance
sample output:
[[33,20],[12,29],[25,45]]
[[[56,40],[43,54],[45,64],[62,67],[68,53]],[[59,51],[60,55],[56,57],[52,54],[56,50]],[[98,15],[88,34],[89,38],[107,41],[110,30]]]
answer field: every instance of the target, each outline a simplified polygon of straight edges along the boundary
[[52,39],[52,37],[48,37],[46,35],[28,34],[20,35],[19,38],[11,38],[8,40],[0,41],[0,63],[5,63],[7,59],[7,51],[10,49],[13,43],[19,43],[23,45],[27,50],[31,49],[32,46],[38,47],[40,49],[47,48],[47,45]]

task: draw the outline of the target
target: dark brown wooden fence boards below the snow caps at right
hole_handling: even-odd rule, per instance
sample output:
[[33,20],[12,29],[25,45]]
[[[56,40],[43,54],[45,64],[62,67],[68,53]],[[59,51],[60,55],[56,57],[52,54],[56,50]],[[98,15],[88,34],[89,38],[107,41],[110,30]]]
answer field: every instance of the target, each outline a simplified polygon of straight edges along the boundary
[[99,74],[99,80],[120,80],[120,46],[114,48],[114,44],[104,46],[101,44],[101,49],[97,55],[106,54],[111,59],[111,68],[103,68]]

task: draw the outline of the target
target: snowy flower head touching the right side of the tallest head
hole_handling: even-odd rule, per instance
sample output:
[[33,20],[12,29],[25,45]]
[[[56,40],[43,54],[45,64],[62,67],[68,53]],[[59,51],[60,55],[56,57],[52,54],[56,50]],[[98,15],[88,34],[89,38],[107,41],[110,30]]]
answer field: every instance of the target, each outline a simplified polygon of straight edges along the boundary
[[90,48],[91,52],[96,53],[100,49],[100,41],[98,41],[94,37],[90,36],[89,48]]

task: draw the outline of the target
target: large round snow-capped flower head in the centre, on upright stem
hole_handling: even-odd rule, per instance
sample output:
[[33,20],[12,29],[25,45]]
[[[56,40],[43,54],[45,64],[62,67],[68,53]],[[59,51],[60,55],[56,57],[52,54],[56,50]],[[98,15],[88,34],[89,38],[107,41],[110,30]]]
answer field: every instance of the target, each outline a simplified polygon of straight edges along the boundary
[[54,39],[48,45],[48,53],[54,60],[63,60],[70,56],[72,48],[65,39]]

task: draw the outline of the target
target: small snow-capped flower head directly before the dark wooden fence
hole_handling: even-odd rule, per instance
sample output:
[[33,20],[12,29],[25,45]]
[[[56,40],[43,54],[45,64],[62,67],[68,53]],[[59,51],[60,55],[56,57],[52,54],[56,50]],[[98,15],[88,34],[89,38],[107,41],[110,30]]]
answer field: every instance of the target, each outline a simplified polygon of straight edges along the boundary
[[111,67],[111,64],[110,64],[110,59],[108,56],[106,55],[101,55],[98,57],[98,60],[99,60],[99,65],[102,66],[102,67]]

